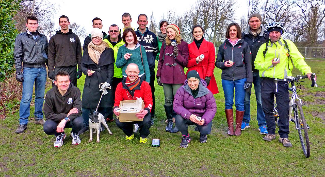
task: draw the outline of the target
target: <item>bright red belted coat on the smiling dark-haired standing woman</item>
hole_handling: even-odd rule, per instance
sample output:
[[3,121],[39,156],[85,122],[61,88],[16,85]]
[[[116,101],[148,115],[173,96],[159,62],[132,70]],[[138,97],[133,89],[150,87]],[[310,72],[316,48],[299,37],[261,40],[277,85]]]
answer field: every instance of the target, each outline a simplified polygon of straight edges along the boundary
[[[208,85],[208,89],[212,92],[212,94],[219,93],[217,83],[215,82],[213,70],[215,63],[215,50],[212,42],[208,42],[203,39],[200,49],[196,46],[195,42],[188,44],[188,52],[189,52],[189,60],[187,64],[187,73],[191,70],[196,70],[201,79],[205,79],[205,77],[211,77],[210,84]],[[196,63],[196,57],[204,55],[204,59]],[[187,74],[186,73],[186,74]]]

